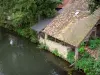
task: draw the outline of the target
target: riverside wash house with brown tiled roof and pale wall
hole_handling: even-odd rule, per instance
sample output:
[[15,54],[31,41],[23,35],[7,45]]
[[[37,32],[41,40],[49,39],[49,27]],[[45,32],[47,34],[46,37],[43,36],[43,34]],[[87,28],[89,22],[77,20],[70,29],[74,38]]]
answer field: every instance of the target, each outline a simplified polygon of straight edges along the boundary
[[39,42],[49,47],[52,52],[58,50],[66,59],[70,50],[75,50],[81,42],[91,37],[100,37],[100,8],[90,14],[87,0],[70,1],[63,11],[56,16],[41,32]]

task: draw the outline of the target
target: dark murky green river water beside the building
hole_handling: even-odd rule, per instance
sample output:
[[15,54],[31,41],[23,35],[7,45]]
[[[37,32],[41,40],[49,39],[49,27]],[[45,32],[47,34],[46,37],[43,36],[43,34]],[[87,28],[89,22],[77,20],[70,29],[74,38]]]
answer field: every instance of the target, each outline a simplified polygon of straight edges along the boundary
[[72,71],[68,62],[39,50],[25,38],[0,30],[0,75],[69,75]]

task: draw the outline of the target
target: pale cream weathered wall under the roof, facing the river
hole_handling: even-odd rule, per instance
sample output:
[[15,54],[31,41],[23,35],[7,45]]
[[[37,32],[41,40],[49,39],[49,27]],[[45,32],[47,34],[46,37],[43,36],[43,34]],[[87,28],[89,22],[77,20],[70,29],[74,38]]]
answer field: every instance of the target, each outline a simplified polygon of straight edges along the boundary
[[67,58],[68,52],[71,50],[71,48],[68,46],[63,46],[63,45],[56,43],[54,41],[51,41],[51,40],[44,40],[41,37],[39,38],[39,42],[46,44],[46,46],[49,47],[50,52],[53,52],[54,50],[58,50],[58,53],[61,56],[61,58],[65,59],[65,60]]

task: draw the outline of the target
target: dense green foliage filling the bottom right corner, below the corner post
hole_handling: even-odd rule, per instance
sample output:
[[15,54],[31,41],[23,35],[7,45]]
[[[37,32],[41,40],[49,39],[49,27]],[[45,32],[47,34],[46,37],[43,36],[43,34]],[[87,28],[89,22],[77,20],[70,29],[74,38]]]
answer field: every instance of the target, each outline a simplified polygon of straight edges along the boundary
[[100,59],[95,60],[89,54],[84,54],[80,60],[75,64],[76,68],[84,70],[86,75],[99,75],[100,74]]

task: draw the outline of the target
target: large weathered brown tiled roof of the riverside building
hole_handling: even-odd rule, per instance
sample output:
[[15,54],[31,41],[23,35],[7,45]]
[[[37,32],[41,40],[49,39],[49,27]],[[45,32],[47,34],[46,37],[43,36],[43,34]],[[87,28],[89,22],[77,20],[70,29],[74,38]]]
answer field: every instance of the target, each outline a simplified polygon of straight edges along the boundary
[[99,18],[100,9],[90,15],[87,0],[75,0],[68,4],[43,32],[77,47]]

